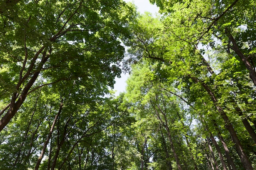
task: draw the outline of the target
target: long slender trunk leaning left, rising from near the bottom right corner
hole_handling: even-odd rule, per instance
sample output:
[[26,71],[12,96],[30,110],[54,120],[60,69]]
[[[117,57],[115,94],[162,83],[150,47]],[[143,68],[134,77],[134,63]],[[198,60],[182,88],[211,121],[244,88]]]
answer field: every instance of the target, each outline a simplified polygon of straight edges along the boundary
[[[194,79],[194,81],[196,83],[199,82],[199,80],[195,77],[191,77],[192,79]],[[241,159],[241,162],[243,164],[243,167],[246,169],[246,170],[253,170],[252,168],[252,164],[250,163],[247,155],[245,154],[244,150],[243,150],[243,147],[236,135],[236,132],[232,126],[232,124],[230,123],[229,121],[229,118],[227,117],[226,113],[224,112],[224,110],[218,105],[218,100],[216,99],[215,95],[213,94],[213,92],[211,91],[211,89],[207,86],[207,84],[205,83],[201,83],[203,88],[207,91],[207,93],[209,94],[209,96],[211,97],[214,105],[216,106],[218,112],[220,113],[222,119],[225,121],[225,127],[227,128],[227,130],[229,130],[229,133],[231,135],[231,138],[235,144],[235,147],[236,147],[236,150],[238,152],[238,155]]]

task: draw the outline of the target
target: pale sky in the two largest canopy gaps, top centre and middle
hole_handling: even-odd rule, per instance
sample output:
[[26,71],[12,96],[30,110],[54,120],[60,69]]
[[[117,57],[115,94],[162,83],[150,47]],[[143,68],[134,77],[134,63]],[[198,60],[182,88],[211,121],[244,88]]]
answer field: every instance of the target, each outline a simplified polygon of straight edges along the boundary
[[[132,2],[137,6],[137,10],[140,13],[144,13],[145,11],[148,11],[152,14],[155,14],[158,12],[159,8],[156,5],[150,4],[149,0],[124,0],[125,2]],[[129,74],[122,73],[121,78],[116,78],[114,91],[116,91],[115,95],[118,95],[120,92],[124,92],[126,89],[126,80],[128,78]]]

